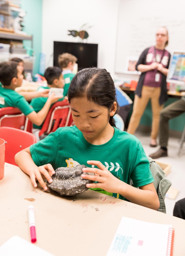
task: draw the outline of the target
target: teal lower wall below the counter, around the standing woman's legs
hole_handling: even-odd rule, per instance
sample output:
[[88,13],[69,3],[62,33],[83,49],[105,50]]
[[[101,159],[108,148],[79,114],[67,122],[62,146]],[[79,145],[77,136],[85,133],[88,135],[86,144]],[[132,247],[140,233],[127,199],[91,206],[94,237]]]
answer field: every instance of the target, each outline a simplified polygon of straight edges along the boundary
[[[129,97],[133,100],[134,94],[133,93],[129,94]],[[164,107],[168,106],[169,104],[171,104],[172,102],[174,102],[176,100],[178,100],[178,99],[169,97],[168,100],[165,102]],[[133,104],[132,104],[132,108],[133,108]],[[130,110],[130,113],[129,113],[128,122],[131,117],[131,114],[132,114],[132,109]],[[149,103],[145,109],[145,112],[144,112],[143,116],[141,117],[140,124],[146,125],[146,126],[151,126],[151,122],[152,122],[152,112],[151,112],[151,103],[149,101]],[[184,124],[185,124],[185,113],[169,120],[170,130],[182,132],[184,129]]]

